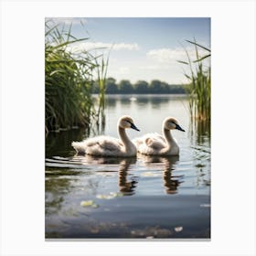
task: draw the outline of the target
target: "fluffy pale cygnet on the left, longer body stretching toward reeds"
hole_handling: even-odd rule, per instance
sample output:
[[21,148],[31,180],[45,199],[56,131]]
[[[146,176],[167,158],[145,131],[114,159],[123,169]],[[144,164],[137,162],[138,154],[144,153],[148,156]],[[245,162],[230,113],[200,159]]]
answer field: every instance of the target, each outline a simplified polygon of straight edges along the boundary
[[130,116],[124,115],[117,124],[119,139],[110,136],[97,136],[82,142],[73,142],[72,146],[79,155],[99,155],[99,156],[135,156],[137,153],[135,145],[130,141],[125,129],[132,128],[140,131],[133,123]]

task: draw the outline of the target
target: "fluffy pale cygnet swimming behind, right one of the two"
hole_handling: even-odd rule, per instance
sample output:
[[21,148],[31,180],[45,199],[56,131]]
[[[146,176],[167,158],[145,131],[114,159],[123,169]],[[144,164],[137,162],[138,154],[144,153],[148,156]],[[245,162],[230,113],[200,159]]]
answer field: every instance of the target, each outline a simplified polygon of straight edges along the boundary
[[177,129],[185,132],[173,117],[165,118],[163,134],[147,133],[140,138],[133,139],[137,152],[144,155],[179,155],[179,147],[170,130]]

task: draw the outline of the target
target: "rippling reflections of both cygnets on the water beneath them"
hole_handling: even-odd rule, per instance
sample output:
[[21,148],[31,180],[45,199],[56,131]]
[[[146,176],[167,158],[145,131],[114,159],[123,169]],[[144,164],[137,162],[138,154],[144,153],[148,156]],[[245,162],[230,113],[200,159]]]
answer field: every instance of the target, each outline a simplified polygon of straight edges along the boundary
[[[140,178],[142,170],[148,171],[160,169],[163,173],[163,185],[166,194],[176,194],[177,187],[183,182],[183,176],[174,176],[175,165],[179,161],[179,155],[159,156],[159,155],[142,155],[138,157],[100,157],[92,155],[75,155],[74,161],[79,161],[82,165],[104,166],[105,170],[118,170],[118,185],[123,196],[132,196]],[[139,165],[140,171],[132,171],[133,165]]]

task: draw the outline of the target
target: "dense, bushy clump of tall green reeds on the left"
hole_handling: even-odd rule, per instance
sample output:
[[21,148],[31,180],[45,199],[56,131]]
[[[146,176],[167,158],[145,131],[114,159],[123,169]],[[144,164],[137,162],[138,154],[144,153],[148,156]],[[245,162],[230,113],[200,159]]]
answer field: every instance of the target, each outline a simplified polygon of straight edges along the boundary
[[97,56],[72,50],[80,41],[71,35],[71,25],[52,26],[45,32],[45,115],[46,131],[89,126],[97,118],[93,104],[93,70],[99,69]]

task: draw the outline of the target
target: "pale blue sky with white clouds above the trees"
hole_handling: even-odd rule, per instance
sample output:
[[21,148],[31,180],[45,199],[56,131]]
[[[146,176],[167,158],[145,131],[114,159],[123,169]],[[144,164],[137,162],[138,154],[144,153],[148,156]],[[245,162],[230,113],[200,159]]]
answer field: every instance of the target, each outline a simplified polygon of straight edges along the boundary
[[[72,23],[75,37],[89,37],[72,48],[106,48],[105,56],[110,53],[107,77],[117,82],[185,83],[187,66],[177,62],[187,61],[184,47],[191,59],[195,59],[195,48],[186,40],[196,38],[198,44],[210,48],[209,17],[55,17],[53,20],[67,27]],[[204,56],[208,52],[199,53]]]

